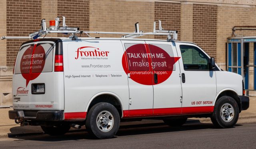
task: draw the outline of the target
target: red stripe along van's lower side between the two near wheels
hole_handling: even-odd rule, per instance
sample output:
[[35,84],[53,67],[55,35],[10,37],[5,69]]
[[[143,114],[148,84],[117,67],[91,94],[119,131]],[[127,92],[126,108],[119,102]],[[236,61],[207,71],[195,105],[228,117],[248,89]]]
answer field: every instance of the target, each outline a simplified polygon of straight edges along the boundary
[[[214,106],[202,106],[202,107],[174,107],[174,108],[159,108],[154,109],[135,109],[124,110],[123,117],[153,117],[153,116],[171,116],[171,115],[185,115],[196,113],[212,113]],[[181,111],[182,110],[182,111]]]

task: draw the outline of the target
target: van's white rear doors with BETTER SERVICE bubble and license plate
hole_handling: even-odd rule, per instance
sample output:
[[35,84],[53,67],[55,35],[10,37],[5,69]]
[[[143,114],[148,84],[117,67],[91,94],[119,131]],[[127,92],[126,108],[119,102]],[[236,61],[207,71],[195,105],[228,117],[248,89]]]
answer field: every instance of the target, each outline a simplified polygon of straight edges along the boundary
[[[20,105],[26,109],[64,109],[63,72],[54,72],[53,66],[55,46],[55,42],[44,40],[20,48],[13,90],[27,94],[16,95],[20,97],[20,101],[16,100],[18,109]],[[19,91],[23,88],[25,91]]]

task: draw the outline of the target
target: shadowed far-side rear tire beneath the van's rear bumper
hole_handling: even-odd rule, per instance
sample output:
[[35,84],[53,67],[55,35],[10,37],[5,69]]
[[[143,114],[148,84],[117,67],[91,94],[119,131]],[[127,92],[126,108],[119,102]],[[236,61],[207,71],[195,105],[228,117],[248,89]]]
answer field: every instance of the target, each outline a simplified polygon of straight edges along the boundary
[[70,126],[64,123],[64,124],[58,124],[51,127],[41,126],[41,128],[43,129],[44,133],[48,135],[64,135],[69,131]]

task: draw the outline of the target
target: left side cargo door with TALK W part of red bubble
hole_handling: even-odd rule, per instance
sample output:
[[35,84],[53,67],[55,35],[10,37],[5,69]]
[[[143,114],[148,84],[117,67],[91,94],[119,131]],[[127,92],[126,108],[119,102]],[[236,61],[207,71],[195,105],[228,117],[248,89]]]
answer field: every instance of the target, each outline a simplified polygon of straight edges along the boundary
[[153,114],[150,57],[144,41],[122,40],[130,93],[129,116]]

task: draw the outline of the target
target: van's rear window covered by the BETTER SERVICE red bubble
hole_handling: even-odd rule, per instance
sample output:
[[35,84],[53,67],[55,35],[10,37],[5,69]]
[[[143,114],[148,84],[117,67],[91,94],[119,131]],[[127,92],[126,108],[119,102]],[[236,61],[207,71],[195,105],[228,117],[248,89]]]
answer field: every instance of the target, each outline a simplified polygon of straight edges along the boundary
[[20,49],[14,74],[52,72],[53,45],[32,44]]

